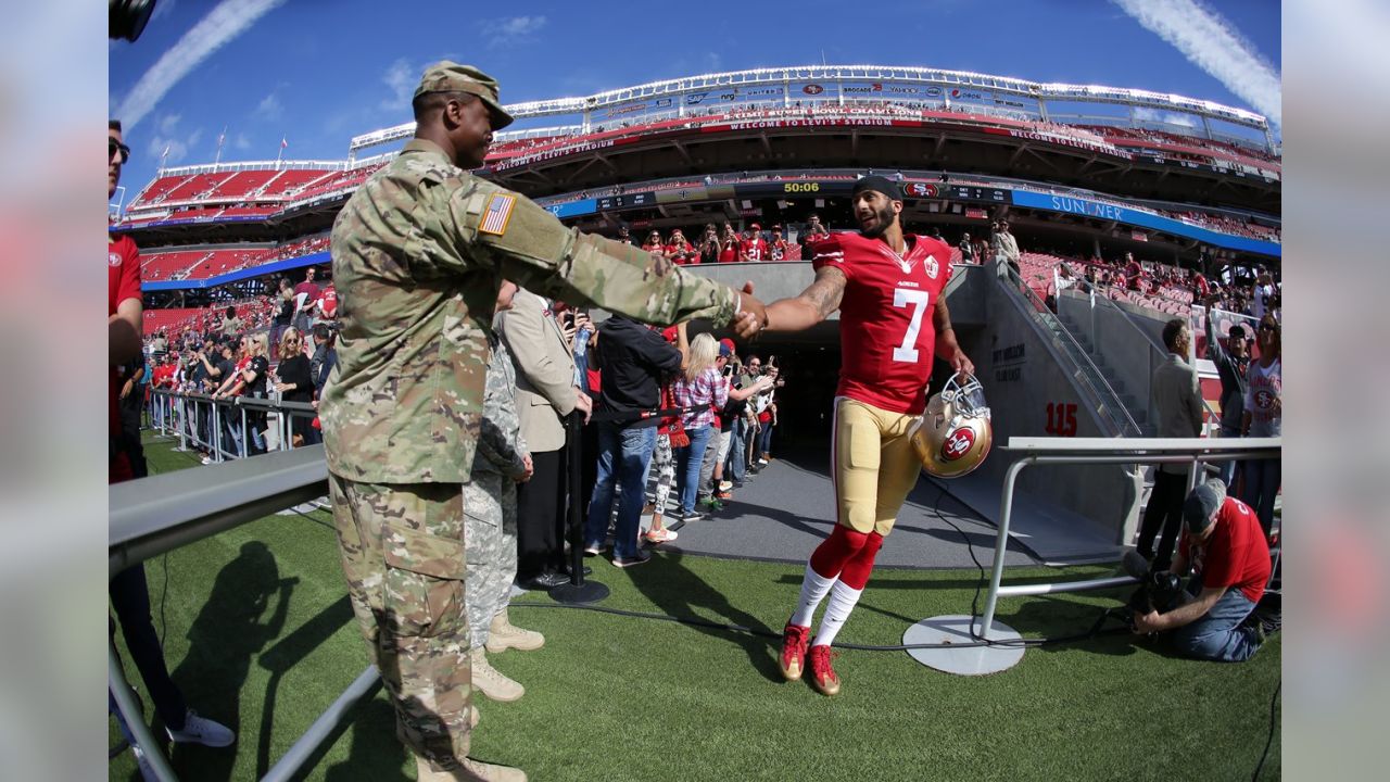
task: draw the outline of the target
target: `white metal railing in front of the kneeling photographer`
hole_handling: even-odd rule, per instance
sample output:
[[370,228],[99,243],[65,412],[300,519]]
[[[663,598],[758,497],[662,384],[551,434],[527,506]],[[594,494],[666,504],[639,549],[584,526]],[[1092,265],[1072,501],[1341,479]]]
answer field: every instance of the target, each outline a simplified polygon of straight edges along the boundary
[[1145,438],[1111,440],[1104,437],[1012,437],[1001,451],[1016,454],[1004,476],[1004,490],[999,500],[999,527],[994,545],[994,566],[990,572],[990,594],[984,603],[984,615],[979,629],[972,633],[983,640],[991,640],[994,614],[1001,597],[1022,597],[1030,594],[1052,594],[1059,591],[1081,591],[1109,589],[1137,583],[1130,576],[1113,576],[1066,583],[1041,583],[1001,586],[1004,579],[1004,555],[1009,544],[1009,522],[1013,516],[1013,487],[1019,473],[1033,465],[1133,465],[1133,463],[1188,463],[1197,465],[1188,473],[1188,491],[1202,474],[1205,462],[1227,462],[1233,459],[1279,458],[1283,440],[1279,437],[1251,437],[1243,440],[1194,438]]

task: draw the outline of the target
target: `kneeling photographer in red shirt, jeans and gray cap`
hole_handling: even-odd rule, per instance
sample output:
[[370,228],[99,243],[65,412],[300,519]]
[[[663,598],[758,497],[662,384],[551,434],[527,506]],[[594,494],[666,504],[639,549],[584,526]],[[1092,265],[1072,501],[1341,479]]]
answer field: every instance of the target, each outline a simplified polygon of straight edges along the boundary
[[[1258,623],[1245,619],[1269,583],[1269,544],[1250,505],[1226,497],[1226,484],[1198,484],[1183,504],[1186,534],[1173,573],[1184,576],[1183,605],[1134,615],[1136,633],[1168,633],[1180,654],[1240,662],[1264,643]],[[1147,607],[1152,608],[1152,607]]]

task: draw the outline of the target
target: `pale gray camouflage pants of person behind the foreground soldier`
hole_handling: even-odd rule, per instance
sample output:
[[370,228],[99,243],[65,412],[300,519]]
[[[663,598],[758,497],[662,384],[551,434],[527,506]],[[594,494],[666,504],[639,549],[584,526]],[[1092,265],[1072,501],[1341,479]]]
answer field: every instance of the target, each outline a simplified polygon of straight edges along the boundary
[[471,477],[473,483],[463,484],[468,636],[481,647],[517,577],[517,484],[498,473],[474,472]]

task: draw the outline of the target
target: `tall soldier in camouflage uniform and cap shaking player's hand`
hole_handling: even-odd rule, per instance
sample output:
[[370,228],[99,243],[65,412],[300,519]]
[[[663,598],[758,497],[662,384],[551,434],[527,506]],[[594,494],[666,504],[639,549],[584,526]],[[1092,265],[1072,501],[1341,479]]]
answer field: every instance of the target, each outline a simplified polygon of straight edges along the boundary
[[500,281],[649,323],[766,324],[762,302],[669,260],[566,228],[468,173],[512,121],[498,83],[430,67],[416,138],[332,231],[338,366],[320,420],[353,611],[421,779],[525,779],[468,758],[463,484],[482,420]]

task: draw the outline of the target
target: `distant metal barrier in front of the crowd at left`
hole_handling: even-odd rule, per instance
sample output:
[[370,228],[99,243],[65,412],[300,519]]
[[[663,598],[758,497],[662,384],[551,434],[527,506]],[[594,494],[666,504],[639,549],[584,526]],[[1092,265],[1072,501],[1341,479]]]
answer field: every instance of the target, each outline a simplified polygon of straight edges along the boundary
[[[307,402],[259,399],[254,397],[210,397],[153,388],[150,405],[160,412],[152,415],[156,431],[178,437],[179,449],[189,444],[206,451],[214,462],[245,459],[254,451],[289,451],[296,429],[293,419],[313,420],[318,410]],[[265,416],[261,429],[256,415]],[[274,437],[268,437],[270,434]]]

